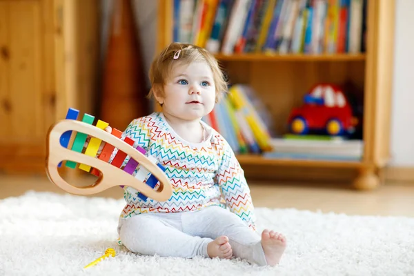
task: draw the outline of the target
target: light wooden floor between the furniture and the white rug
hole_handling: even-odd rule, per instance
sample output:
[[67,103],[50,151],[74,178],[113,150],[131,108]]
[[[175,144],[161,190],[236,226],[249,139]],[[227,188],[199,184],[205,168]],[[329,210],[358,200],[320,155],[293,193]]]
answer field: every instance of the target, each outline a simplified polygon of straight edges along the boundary
[[[75,178],[71,184],[79,185],[95,179]],[[91,182],[91,184],[92,184]],[[88,183],[89,184],[89,183]],[[322,210],[324,213],[348,215],[402,215],[414,217],[414,184],[386,184],[372,191],[352,190],[335,184],[301,184],[249,181],[253,203],[256,207],[296,208],[299,210]],[[66,193],[46,177],[0,175],[0,200],[15,197],[27,190]],[[123,197],[123,190],[110,188],[92,196]]]

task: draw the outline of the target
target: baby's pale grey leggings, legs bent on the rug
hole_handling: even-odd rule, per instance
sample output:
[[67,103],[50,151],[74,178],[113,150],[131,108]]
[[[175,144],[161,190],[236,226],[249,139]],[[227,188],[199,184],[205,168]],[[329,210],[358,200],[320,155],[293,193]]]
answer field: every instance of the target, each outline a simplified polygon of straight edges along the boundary
[[233,255],[266,265],[261,237],[237,215],[219,206],[183,213],[145,213],[119,222],[119,237],[128,250],[142,255],[208,257],[207,244],[225,235]]

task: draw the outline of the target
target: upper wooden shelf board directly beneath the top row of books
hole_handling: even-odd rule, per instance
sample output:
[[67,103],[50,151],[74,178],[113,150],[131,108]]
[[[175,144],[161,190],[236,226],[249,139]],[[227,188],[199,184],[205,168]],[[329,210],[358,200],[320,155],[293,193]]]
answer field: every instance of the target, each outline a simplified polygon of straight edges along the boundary
[[362,54],[335,54],[335,55],[273,55],[273,54],[217,54],[215,57],[221,61],[364,61]]

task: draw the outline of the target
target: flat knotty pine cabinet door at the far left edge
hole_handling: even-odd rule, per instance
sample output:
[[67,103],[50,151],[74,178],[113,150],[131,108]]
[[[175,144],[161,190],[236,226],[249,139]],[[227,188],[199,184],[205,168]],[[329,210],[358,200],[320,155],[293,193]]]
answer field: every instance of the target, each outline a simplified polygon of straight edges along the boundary
[[48,109],[42,105],[46,81],[41,5],[0,1],[0,170],[44,168]]

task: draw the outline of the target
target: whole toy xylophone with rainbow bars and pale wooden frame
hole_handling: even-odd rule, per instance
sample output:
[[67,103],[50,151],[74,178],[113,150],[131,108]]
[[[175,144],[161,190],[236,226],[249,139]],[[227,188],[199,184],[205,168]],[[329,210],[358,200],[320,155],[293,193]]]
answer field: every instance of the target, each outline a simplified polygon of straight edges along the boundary
[[[76,195],[100,193],[122,184],[127,186],[130,193],[139,192],[138,197],[144,200],[150,197],[157,201],[166,201],[171,197],[172,187],[164,173],[165,168],[157,164],[155,158],[146,157],[144,148],[132,147],[134,141],[128,137],[124,140],[120,139],[122,132],[116,128],[112,129],[111,133],[106,132],[104,129],[109,124],[105,121],[97,120],[96,125],[93,126],[94,116],[84,114],[82,121],[77,121],[78,115],[79,110],[69,108],[66,119],[58,121],[49,128],[46,172],[52,183]],[[90,141],[84,148],[88,135]],[[74,139],[71,139],[73,137]],[[71,145],[70,141],[73,141]],[[106,144],[97,156],[102,141]],[[109,163],[115,148],[118,149],[117,154]],[[126,166],[121,168],[128,155],[130,159]],[[72,186],[59,175],[58,168],[63,166],[63,163],[68,168],[77,168],[79,164],[79,169],[96,175],[98,179],[90,186]],[[137,168],[134,176],[133,172]],[[159,188],[154,190],[158,181]]]

